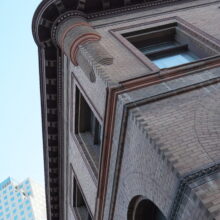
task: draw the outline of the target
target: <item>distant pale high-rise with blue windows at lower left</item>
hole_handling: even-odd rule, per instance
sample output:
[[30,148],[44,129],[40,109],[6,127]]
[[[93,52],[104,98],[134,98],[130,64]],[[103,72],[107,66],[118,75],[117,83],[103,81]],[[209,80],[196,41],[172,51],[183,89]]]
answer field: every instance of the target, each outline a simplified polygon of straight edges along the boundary
[[30,180],[0,183],[0,220],[46,220],[44,188]]

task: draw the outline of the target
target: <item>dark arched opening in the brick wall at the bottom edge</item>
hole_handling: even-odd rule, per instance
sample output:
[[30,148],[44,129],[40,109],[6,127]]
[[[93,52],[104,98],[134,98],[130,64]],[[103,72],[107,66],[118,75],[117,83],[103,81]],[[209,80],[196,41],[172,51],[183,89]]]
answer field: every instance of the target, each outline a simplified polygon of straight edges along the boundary
[[135,196],[128,207],[128,220],[166,220],[160,209],[143,196]]

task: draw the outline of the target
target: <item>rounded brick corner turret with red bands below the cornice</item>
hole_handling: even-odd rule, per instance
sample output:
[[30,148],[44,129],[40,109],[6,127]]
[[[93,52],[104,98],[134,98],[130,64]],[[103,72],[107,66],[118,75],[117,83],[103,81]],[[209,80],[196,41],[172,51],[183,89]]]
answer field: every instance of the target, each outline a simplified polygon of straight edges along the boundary
[[113,57],[99,43],[100,40],[100,34],[80,16],[68,18],[57,28],[57,44],[91,82],[95,81],[97,65],[113,63]]

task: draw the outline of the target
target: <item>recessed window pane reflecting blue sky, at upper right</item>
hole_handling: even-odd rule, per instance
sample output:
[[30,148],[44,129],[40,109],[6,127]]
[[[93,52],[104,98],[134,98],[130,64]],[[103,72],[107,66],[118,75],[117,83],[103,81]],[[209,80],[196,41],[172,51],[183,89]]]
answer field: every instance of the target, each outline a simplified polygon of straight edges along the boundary
[[[177,23],[123,35],[160,69],[197,61],[212,55],[203,50]],[[209,54],[210,53],[210,54]]]

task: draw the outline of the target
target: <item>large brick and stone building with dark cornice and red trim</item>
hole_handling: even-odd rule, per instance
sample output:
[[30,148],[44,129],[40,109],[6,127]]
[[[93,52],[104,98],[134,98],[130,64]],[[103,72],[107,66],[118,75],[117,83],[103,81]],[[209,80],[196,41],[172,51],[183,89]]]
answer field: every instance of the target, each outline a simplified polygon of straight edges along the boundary
[[220,1],[44,0],[48,219],[220,219]]

